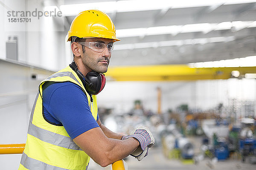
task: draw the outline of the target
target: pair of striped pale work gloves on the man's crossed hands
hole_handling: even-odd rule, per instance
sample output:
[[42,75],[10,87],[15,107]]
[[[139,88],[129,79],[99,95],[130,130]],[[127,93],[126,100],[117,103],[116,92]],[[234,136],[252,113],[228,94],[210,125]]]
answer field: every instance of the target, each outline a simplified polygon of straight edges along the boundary
[[140,143],[140,147],[134,150],[134,152],[131,153],[131,156],[134,156],[138,159],[138,161],[141,161],[145,156],[148,155],[148,148],[154,145],[155,139],[150,130],[143,126],[137,127],[128,136],[122,136],[121,140],[125,140],[130,137],[137,139],[137,141]]

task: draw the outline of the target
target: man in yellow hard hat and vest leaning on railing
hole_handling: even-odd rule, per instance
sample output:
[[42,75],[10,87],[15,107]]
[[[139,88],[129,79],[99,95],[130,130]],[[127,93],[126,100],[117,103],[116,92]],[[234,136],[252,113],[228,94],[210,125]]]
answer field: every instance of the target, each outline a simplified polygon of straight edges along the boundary
[[74,61],[39,85],[19,170],[85,170],[90,158],[105,167],[129,154],[140,161],[154,144],[151,132],[139,127],[129,136],[113,133],[97,113],[102,73],[119,41],[110,17],[83,11],[67,36]]

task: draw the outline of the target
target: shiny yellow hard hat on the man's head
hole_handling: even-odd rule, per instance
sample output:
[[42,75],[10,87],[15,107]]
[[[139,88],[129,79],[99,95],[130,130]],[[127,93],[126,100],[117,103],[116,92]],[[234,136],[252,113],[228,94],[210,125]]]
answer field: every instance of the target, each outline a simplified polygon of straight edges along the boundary
[[113,42],[120,41],[116,38],[116,28],[111,18],[99,10],[80,12],[71,23],[67,33],[67,41],[71,41],[72,36],[108,38],[112,39]]

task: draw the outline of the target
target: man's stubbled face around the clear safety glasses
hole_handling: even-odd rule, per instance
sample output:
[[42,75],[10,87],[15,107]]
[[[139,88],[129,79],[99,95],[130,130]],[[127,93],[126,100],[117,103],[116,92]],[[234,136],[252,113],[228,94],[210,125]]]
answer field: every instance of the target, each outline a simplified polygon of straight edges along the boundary
[[[102,42],[105,45],[113,43],[113,40],[106,38],[87,38],[85,42]],[[111,58],[111,52],[105,48],[102,52],[96,52],[84,46],[85,52],[81,55],[82,62],[87,68],[98,73],[105,73],[108,70],[108,64]]]

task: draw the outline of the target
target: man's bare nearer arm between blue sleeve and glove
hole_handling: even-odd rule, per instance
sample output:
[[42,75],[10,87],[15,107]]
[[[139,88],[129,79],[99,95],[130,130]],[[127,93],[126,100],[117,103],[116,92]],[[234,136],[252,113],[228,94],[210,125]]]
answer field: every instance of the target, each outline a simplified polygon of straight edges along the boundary
[[134,138],[125,140],[108,138],[99,127],[87,130],[73,141],[103,167],[125,158],[140,145]]

